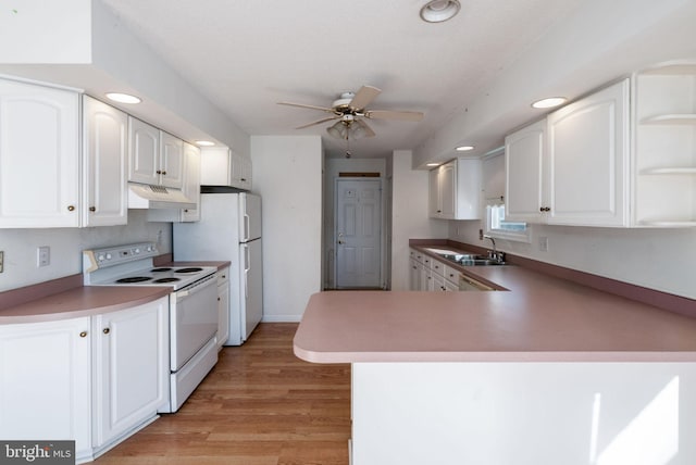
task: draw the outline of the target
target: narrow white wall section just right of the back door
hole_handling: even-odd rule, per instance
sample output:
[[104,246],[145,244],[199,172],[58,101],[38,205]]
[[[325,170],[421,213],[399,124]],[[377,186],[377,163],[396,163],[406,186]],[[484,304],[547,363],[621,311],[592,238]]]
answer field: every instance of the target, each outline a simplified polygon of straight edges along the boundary
[[446,238],[448,222],[427,217],[426,171],[411,169],[410,150],[395,150],[391,200],[391,290],[409,289],[409,239]]

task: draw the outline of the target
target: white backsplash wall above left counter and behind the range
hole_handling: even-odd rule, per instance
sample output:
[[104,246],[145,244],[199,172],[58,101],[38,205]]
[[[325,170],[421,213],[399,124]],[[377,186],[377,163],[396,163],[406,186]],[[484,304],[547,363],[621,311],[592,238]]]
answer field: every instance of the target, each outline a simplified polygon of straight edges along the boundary
[[[160,231],[162,231],[160,234]],[[172,251],[171,223],[148,223],[147,210],[128,210],[127,226],[62,229],[0,229],[4,271],[0,291],[62,278],[83,272],[83,249],[135,242],[157,242],[161,253]],[[51,248],[51,264],[36,266],[36,248]]]

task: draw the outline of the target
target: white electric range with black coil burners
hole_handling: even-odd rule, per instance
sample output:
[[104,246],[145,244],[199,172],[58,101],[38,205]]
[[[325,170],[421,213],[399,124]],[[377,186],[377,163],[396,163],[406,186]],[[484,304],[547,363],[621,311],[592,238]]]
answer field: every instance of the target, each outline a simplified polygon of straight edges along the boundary
[[170,404],[176,412],[217,362],[214,266],[154,266],[154,242],[83,251],[85,286],[166,286],[170,293]]

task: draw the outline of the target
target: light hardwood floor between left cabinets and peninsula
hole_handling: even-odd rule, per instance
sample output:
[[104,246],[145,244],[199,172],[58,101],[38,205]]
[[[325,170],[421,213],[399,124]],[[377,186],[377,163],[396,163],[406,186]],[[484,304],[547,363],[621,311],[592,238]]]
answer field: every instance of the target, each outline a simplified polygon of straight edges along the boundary
[[297,324],[262,323],[220,361],[175,414],[97,465],[347,465],[350,365],[293,354]]

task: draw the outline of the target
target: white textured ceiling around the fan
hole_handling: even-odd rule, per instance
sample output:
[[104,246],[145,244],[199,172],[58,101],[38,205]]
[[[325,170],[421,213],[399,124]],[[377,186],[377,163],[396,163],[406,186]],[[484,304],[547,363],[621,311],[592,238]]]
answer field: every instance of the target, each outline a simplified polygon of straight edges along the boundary
[[370,121],[376,137],[351,142],[355,156],[421,144],[464,111],[489,79],[582,0],[469,0],[455,18],[427,24],[419,0],[103,0],[123,24],[250,135],[316,134],[313,110],[363,84],[370,105],[414,110],[420,123]]

